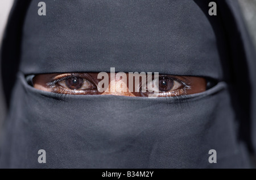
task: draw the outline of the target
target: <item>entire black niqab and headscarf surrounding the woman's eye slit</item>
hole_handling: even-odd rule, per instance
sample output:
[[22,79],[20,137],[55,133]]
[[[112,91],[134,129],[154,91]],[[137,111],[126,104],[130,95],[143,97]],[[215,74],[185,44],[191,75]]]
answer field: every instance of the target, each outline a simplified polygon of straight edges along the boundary
[[[1,53],[4,168],[249,168],[255,55],[236,1],[16,1]],[[26,75],[159,72],[218,83],[142,98],[36,90]],[[246,84],[246,87],[244,85]],[[39,164],[44,149],[47,163]],[[217,152],[217,164],[208,161]]]

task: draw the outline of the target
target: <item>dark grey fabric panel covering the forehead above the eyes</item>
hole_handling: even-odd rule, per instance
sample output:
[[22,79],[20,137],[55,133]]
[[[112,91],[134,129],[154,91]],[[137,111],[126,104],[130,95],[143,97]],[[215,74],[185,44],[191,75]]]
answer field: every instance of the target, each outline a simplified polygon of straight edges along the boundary
[[213,29],[193,1],[46,1],[46,16],[37,15],[38,2],[24,23],[25,74],[115,67],[222,77]]

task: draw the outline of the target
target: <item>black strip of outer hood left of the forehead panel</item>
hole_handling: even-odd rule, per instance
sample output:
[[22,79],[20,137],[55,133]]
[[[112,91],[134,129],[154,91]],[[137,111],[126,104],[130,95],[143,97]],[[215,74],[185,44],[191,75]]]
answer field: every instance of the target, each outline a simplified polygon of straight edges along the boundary
[[1,74],[3,90],[7,106],[10,105],[11,89],[15,84],[16,73],[19,71],[20,44],[24,15],[26,15],[30,1],[14,1],[8,24],[3,35],[1,47]]

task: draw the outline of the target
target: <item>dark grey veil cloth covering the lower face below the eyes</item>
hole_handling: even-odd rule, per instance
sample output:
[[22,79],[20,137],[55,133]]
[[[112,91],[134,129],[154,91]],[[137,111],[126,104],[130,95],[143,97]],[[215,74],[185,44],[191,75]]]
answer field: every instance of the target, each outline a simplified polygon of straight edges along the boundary
[[[23,74],[17,86],[6,144],[13,152],[2,157],[10,168],[249,167],[225,83],[155,99],[43,92]],[[39,149],[46,164],[38,163]],[[210,149],[217,164],[208,162]]]

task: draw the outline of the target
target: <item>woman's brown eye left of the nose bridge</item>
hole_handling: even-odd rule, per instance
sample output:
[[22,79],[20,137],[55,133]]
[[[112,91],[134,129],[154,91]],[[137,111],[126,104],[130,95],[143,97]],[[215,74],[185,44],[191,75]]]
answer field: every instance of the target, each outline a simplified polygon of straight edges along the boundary
[[81,77],[68,77],[57,82],[57,85],[68,90],[88,90],[95,88],[93,83]]

